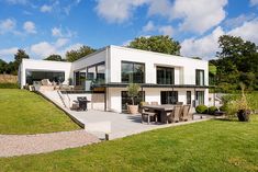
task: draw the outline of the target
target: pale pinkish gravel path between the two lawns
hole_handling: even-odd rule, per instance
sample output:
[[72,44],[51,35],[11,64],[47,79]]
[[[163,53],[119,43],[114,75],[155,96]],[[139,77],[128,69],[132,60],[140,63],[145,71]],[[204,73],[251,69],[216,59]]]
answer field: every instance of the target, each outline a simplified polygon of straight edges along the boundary
[[0,135],[0,157],[51,152],[99,141],[83,129],[37,135]]

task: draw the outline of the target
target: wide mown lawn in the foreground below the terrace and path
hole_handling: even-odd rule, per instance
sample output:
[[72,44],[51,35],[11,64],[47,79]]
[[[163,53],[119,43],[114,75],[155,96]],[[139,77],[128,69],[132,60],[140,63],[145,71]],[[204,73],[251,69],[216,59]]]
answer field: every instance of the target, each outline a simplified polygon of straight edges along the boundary
[[258,171],[258,116],[209,121],[45,154],[0,159],[0,171]]

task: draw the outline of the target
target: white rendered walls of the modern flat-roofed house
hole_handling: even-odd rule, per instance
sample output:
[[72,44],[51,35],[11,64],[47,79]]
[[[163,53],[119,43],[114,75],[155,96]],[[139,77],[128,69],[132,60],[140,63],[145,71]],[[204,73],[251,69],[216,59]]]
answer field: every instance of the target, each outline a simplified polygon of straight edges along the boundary
[[[178,102],[187,103],[187,91],[191,91],[191,101],[195,100],[195,91],[204,91],[204,104],[209,105],[209,65],[205,60],[191,59],[180,56],[171,56],[153,51],[145,51],[119,46],[109,46],[87,57],[74,62],[57,62],[45,60],[24,59],[21,64],[20,79],[21,85],[25,85],[25,71],[33,70],[52,70],[64,71],[65,80],[69,78],[75,80],[76,71],[87,72],[88,67],[96,64],[104,64],[104,78],[106,83],[106,110],[122,111],[122,91],[125,87],[109,87],[112,83],[122,82],[122,61],[141,62],[145,65],[145,82],[157,85],[157,67],[169,67],[175,70],[175,87],[171,88],[143,88],[146,102],[160,102],[161,91],[177,91]],[[204,87],[195,85],[195,70],[204,71]],[[180,87],[177,87],[180,85]]]

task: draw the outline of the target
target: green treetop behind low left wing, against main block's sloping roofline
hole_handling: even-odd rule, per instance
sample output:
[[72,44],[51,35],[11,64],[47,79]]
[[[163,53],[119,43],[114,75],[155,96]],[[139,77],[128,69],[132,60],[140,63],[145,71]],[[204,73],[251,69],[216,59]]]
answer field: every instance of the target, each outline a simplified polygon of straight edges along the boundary
[[78,60],[78,59],[80,59],[89,54],[92,54],[94,51],[96,51],[96,49],[83,45],[77,50],[67,51],[66,53],[66,60],[72,62],[72,61]]

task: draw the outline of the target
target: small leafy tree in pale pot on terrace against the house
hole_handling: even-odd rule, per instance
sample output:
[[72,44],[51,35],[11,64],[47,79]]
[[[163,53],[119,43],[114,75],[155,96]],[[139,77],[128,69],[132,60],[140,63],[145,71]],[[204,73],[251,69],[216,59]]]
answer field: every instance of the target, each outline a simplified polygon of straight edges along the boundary
[[138,113],[138,105],[135,105],[135,99],[138,96],[139,85],[137,83],[130,83],[127,87],[127,94],[132,99],[132,105],[127,105],[130,114]]

